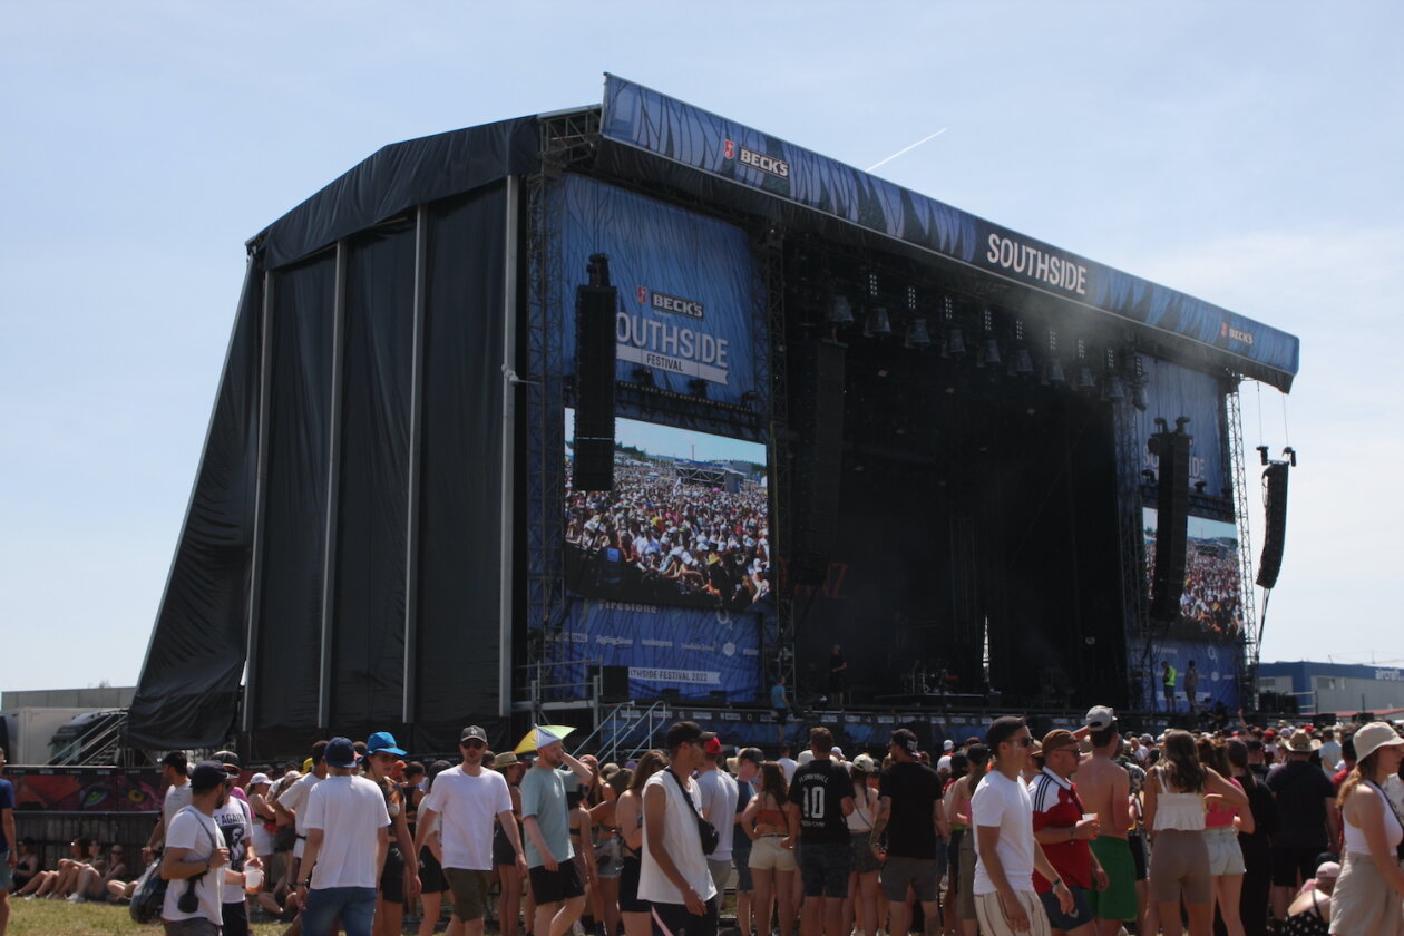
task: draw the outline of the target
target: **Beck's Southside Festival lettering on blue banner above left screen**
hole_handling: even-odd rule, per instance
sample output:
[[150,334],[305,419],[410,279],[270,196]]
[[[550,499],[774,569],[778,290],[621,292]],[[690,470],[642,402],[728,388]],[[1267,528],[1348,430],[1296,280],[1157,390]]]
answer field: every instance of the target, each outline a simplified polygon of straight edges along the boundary
[[[684,316],[698,323],[706,316],[706,307],[696,299],[647,286],[636,286],[635,296],[640,306],[653,313]],[[730,386],[730,342],[709,331],[658,320],[642,312],[630,314],[621,310],[615,316],[615,341],[619,361]]]

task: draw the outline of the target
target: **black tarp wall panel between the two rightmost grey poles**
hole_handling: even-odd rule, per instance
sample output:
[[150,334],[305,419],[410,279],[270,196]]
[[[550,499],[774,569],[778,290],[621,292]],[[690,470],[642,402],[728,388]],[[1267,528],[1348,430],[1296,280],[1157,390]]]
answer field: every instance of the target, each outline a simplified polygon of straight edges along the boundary
[[434,210],[424,334],[416,749],[497,721],[507,198]]

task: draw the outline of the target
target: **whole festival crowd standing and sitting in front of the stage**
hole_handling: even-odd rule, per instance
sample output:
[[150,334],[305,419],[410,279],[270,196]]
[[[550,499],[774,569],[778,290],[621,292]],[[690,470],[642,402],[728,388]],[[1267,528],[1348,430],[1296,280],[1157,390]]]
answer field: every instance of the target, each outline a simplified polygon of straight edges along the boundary
[[[167,933],[264,914],[392,936],[416,908],[427,936],[449,905],[449,933],[715,936],[731,890],[737,936],[1404,936],[1404,738],[1383,721],[1123,737],[1098,706],[939,755],[897,728],[851,759],[824,727],[795,759],[691,721],[663,741],[601,765],[548,728],[493,754],[469,726],[425,769],[376,733],[243,787],[236,755],[174,752],[147,843]],[[122,857],[76,839],[18,890],[122,900]]]

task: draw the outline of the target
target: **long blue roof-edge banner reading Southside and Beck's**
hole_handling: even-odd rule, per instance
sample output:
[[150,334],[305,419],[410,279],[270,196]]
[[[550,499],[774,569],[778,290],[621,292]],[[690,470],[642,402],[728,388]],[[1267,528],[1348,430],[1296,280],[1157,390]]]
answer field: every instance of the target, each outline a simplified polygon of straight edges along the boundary
[[[1026,237],[782,139],[608,76],[601,132],[717,178],[1237,358],[1287,389],[1300,341],[1182,292]],[[1252,366],[1250,366],[1252,365]]]

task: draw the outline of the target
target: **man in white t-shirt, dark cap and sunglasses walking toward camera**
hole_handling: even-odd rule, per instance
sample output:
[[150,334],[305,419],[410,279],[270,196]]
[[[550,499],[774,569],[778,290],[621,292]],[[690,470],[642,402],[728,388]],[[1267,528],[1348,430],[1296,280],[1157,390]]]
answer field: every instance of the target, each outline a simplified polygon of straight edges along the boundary
[[434,777],[434,789],[420,803],[414,853],[428,841],[434,820],[442,817],[439,842],[444,849],[444,878],[453,891],[453,923],[468,936],[480,936],[493,874],[493,820],[503,824],[517,853],[517,870],[526,876],[512,797],[497,770],[483,768],[487,733],[476,724],[463,728],[458,740],[463,762]]

